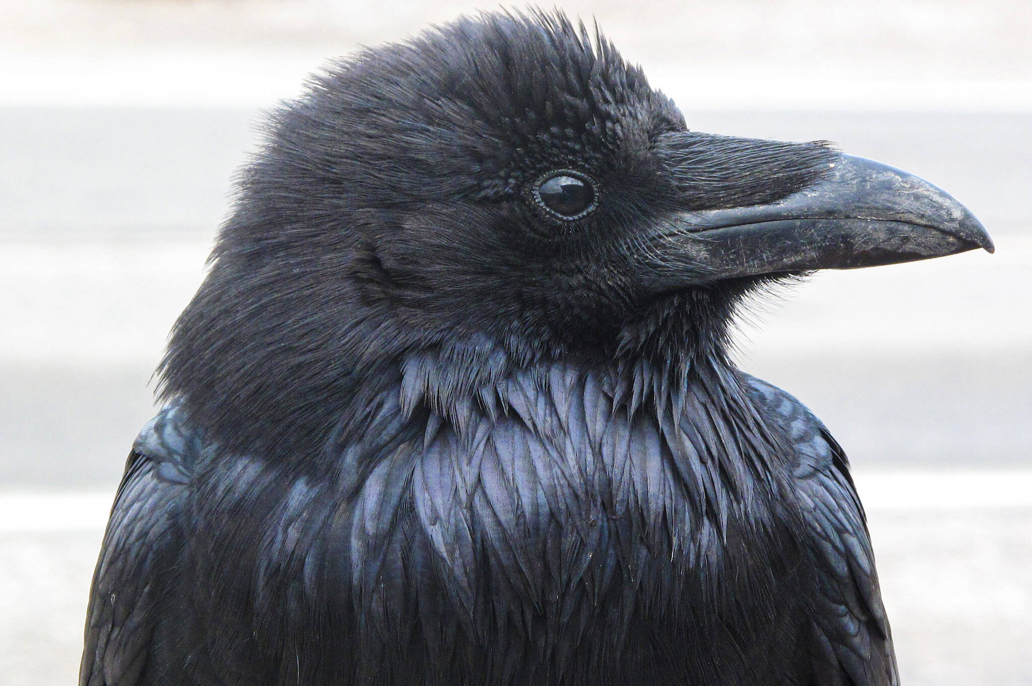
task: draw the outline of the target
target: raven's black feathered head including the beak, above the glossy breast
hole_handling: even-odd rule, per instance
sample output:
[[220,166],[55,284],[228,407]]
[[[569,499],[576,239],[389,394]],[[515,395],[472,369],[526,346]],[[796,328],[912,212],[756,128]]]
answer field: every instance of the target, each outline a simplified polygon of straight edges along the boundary
[[952,197],[824,143],[688,131],[561,14],[359,53],[273,118],[164,392],[228,443],[325,437],[372,375],[720,356],[757,284],[992,249]]

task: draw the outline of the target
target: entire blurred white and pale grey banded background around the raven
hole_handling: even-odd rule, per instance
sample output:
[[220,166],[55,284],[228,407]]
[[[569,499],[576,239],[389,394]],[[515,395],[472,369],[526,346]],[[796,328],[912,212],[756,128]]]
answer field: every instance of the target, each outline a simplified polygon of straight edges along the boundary
[[[850,454],[904,683],[1032,684],[1032,3],[560,5],[690,128],[833,140],[989,228],[996,255],[756,303],[739,360]],[[261,111],[477,7],[0,0],[0,684],[75,682],[106,509]]]

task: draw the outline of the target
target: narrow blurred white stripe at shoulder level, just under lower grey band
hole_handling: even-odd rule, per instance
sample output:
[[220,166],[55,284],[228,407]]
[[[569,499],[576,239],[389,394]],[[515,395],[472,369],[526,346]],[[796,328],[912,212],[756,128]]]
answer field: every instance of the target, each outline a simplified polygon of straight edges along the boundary
[[[874,511],[1032,509],[1032,469],[861,470],[853,475],[864,507]],[[110,493],[0,494],[0,533],[99,530]]]

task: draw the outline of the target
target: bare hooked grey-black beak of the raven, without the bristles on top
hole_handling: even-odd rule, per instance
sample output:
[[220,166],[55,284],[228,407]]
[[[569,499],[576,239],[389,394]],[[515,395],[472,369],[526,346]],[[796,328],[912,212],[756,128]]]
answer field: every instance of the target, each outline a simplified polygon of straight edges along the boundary
[[[673,280],[678,266],[692,281],[713,281],[993,252],[974,215],[928,182],[851,155],[828,164],[820,181],[777,202],[684,213],[659,251],[676,253],[678,265],[654,277]],[[681,271],[681,286],[684,279]]]

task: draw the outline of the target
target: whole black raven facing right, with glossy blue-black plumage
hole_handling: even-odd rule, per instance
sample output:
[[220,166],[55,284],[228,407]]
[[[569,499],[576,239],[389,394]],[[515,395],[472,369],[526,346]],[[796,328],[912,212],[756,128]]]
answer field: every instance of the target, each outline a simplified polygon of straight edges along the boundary
[[897,684],[845,455],[729,329],[978,247],[898,169],[689,131],[561,13],[333,64],[175,324],[80,683]]

